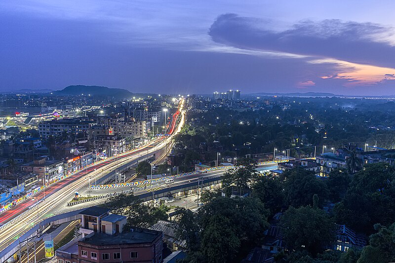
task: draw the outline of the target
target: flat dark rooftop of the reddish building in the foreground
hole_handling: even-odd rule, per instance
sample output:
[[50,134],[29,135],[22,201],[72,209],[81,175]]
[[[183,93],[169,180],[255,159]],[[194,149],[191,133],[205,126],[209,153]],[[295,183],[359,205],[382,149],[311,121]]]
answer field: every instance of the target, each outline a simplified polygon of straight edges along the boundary
[[86,238],[80,243],[90,245],[118,245],[118,244],[141,244],[141,243],[152,243],[155,239],[162,236],[162,232],[149,230],[149,229],[137,229],[125,233],[118,233],[118,235],[108,235],[103,233],[95,233],[91,238]]

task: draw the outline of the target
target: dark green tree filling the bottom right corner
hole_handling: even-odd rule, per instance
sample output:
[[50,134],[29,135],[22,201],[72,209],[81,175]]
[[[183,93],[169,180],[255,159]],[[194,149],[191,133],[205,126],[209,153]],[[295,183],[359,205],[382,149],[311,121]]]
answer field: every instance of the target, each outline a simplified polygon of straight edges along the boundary
[[[369,245],[364,247],[358,263],[387,263],[395,261],[395,223],[390,226],[374,225],[377,233],[369,238]],[[373,261],[372,261],[373,260]]]

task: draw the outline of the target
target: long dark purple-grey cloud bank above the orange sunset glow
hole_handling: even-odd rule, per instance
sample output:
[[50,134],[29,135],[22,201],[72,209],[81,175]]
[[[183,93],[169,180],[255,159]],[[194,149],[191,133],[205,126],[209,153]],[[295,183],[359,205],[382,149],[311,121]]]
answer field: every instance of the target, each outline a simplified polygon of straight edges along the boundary
[[[236,14],[220,15],[209,35],[218,42],[243,49],[335,58],[358,64],[395,67],[395,48],[373,39],[391,35],[392,28],[340,20],[301,21],[276,32],[265,21]],[[381,37],[381,38],[382,38]]]

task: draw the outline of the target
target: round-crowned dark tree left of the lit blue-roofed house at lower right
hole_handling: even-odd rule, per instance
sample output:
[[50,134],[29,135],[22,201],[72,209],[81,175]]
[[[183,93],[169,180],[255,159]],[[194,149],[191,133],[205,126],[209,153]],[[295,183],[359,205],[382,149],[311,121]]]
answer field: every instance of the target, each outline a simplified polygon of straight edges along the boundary
[[290,249],[307,250],[315,255],[335,238],[332,219],[311,206],[289,207],[281,216],[280,225]]

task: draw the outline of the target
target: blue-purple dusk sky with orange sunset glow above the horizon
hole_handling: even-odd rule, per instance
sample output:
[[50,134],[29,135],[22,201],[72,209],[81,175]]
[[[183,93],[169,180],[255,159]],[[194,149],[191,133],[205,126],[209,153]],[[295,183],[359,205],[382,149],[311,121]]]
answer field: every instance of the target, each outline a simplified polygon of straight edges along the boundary
[[0,91],[395,95],[395,1],[0,1]]

